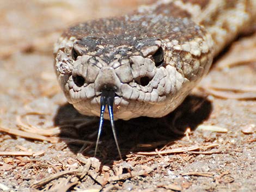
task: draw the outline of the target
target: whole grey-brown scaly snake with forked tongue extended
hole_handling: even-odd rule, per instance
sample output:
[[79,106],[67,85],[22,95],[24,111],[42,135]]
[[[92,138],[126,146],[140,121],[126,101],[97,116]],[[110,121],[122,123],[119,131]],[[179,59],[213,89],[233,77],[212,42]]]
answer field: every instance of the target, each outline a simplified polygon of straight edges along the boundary
[[255,17],[256,0],[158,0],[64,30],[54,70],[68,102],[100,117],[95,154],[103,119],[121,157],[114,120],[172,112]]

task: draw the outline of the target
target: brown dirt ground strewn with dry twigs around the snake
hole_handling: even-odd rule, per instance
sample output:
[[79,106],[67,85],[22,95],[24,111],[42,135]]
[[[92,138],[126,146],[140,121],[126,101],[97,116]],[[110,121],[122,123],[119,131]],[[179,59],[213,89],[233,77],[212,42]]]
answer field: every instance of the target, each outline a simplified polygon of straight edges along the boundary
[[175,112],[116,121],[123,160],[105,121],[94,158],[99,119],[66,102],[53,43],[70,24],[147,2],[0,2],[0,191],[256,191],[253,33],[215,60]]

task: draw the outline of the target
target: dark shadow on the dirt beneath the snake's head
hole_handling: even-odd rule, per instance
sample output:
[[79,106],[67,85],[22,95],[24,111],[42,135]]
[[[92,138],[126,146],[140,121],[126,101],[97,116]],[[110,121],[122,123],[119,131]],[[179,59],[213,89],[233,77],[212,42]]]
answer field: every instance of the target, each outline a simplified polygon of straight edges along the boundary
[[[155,148],[181,139],[188,127],[193,130],[208,119],[211,110],[211,102],[204,97],[188,96],[180,107],[164,117],[138,117],[129,121],[115,121],[123,157],[132,152],[154,151]],[[54,123],[61,127],[60,138],[78,139],[75,143],[64,140],[72,152],[81,152],[81,148],[84,147],[85,156],[94,156],[99,118],[81,115],[71,104],[65,104],[59,107]],[[79,140],[91,141],[93,144],[83,146]],[[119,160],[110,122],[107,120],[103,125],[97,158],[102,163]]]

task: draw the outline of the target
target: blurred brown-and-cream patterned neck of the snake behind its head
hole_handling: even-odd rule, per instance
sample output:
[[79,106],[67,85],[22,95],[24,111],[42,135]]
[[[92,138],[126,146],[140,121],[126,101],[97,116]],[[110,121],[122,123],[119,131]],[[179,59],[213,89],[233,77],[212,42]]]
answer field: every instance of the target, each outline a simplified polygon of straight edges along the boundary
[[136,12],[190,18],[210,33],[217,55],[238,34],[251,30],[256,20],[255,7],[255,0],[160,0]]

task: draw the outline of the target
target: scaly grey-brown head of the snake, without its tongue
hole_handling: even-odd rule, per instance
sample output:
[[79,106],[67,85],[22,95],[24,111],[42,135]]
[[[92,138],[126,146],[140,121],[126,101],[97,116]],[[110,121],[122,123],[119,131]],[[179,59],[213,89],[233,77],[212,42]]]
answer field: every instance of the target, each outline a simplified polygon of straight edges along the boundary
[[115,119],[160,117],[208,71],[211,43],[187,18],[105,18],[66,30],[54,66],[66,98],[82,114],[100,116],[102,92],[112,90]]

